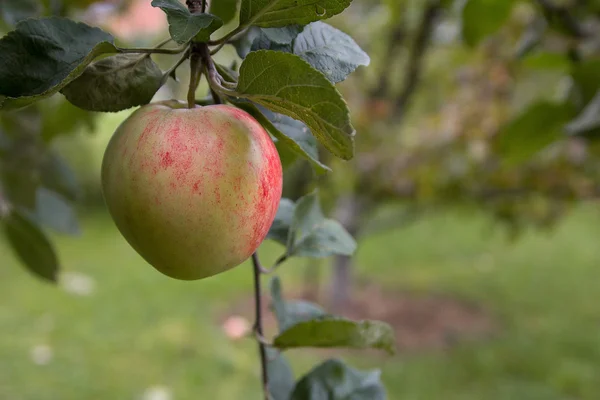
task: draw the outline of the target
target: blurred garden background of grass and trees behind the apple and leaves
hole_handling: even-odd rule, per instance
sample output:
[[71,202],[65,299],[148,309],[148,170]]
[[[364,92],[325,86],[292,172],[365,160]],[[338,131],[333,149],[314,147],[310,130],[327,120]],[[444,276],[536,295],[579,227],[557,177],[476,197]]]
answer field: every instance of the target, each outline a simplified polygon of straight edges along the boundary
[[[146,0],[42,3],[61,3],[53,12],[132,46],[166,36],[164,15]],[[477,1],[355,0],[332,20],[372,59],[341,85],[357,157],[322,152],[334,172],[316,183],[298,162],[285,192],[297,198],[318,187],[359,250],[352,260],[292,260],[283,283],[289,297],[386,320],[399,352],[290,358],[298,376],[323,356],[380,368],[392,400],[598,399],[600,165],[590,139],[598,121],[585,129],[579,121],[565,139],[568,121],[556,115],[567,102],[585,108],[600,88],[600,7],[468,3]],[[8,4],[0,1],[3,32],[14,22]],[[564,15],[591,33],[574,35]],[[185,68],[178,75],[181,84],[169,82],[157,99],[184,97]],[[201,85],[198,97],[205,92]],[[43,168],[15,148],[52,152],[74,173],[67,181],[77,195],[68,200],[79,217],[47,224],[62,266],[56,287],[33,278],[0,241],[0,399],[258,400],[256,343],[246,337],[251,266],[199,282],[168,279],[104,208],[102,154],[129,113],[94,115],[57,95],[0,115],[0,150],[4,131],[24,138],[7,147],[18,157],[0,163],[2,178],[25,182],[23,171]],[[260,254],[270,265],[282,251],[265,243]]]

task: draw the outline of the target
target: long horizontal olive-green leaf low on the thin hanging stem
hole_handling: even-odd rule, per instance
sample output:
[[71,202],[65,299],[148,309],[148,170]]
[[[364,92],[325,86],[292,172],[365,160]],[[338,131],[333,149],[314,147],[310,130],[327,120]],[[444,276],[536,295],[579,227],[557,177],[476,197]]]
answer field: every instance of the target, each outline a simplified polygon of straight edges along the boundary
[[299,322],[273,340],[282,350],[299,347],[379,349],[394,353],[392,328],[380,321],[351,321],[338,317],[323,317]]

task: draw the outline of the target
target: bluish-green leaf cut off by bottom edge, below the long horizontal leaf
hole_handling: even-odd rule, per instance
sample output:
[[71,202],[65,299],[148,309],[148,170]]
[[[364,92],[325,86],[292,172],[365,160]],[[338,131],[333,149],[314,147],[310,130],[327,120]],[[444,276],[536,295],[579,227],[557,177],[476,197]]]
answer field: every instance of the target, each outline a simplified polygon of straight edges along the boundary
[[362,372],[340,360],[327,360],[308,372],[294,388],[291,400],[385,400],[378,370]]

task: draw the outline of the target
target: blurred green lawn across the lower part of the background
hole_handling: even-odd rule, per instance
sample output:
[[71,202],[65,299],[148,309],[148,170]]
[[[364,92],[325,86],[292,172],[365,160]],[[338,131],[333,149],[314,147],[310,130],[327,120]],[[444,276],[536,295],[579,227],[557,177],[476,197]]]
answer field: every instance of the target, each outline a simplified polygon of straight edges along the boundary
[[[381,367],[392,400],[600,398],[600,224],[582,208],[551,233],[511,243],[473,213],[438,214],[366,238],[360,274],[392,289],[453,294],[485,305],[502,329],[448,351],[353,357]],[[231,341],[216,314],[251,290],[248,265],[178,282],[154,272],[105,215],[81,238],[56,238],[64,270],[93,279],[88,296],[38,282],[0,242],[0,398],[260,399],[253,341]],[[265,258],[277,255],[267,245]],[[289,287],[301,262],[286,267]],[[45,365],[36,346],[51,349]],[[40,351],[38,348],[37,351]],[[298,373],[316,361],[290,354]]]

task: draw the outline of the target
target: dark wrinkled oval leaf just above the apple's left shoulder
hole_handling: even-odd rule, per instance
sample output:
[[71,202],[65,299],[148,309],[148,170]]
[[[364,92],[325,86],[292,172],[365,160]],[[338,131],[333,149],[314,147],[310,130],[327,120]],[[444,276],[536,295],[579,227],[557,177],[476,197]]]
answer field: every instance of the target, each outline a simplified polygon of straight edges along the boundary
[[61,93],[88,111],[116,112],[148,104],[163,83],[163,73],[148,56],[117,54],[88,65]]

